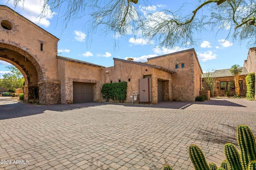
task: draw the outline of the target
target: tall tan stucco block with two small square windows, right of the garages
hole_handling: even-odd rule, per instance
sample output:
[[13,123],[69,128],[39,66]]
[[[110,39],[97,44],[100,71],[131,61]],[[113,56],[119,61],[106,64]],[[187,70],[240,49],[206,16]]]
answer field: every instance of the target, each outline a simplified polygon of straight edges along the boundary
[[[153,57],[148,59],[148,64],[176,71],[172,74],[172,100],[194,101],[199,95],[202,71],[194,49]],[[179,65],[178,69],[175,67],[176,64]],[[182,64],[184,68],[181,68]]]

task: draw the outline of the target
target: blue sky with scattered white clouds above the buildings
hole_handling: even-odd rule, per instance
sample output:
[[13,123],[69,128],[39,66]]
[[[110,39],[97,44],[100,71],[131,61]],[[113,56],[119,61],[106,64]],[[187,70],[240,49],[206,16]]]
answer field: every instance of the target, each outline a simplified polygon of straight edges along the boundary
[[[140,5],[138,9],[142,11],[145,8],[150,8],[152,13],[162,9],[176,11],[187,0],[152,0],[150,2],[153,8]],[[7,4],[5,0],[0,0],[0,4],[14,9],[13,0],[9,0]],[[195,8],[196,4],[194,6],[186,6],[184,11],[192,12]],[[60,39],[58,42],[59,55],[106,67],[113,66],[113,58],[126,59],[132,57],[134,61],[145,62],[150,57],[194,48],[202,70],[206,72],[212,69],[230,68],[234,64],[243,66],[248,54],[246,43],[240,45],[238,41],[233,42],[232,39],[226,40],[228,30],[217,35],[216,31],[200,33],[200,35],[197,35],[198,37],[195,37],[198,39],[197,46],[186,48],[177,46],[173,49],[159,48],[154,42],[149,42],[142,37],[136,37],[135,39],[133,35],[116,37],[111,32],[105,34],[100,31],[89,35],[88,30],[85,29],[85,23],[88,21],[86,16],[71,21],[64,28],[62,18],[58,18],[61,14],[58,15],[54,12],[52,15],[40,19],[38,17],[40,15],[40,9],[40,0],[25,0],[24,5],[19,5],[15,10]],[[5,66],[8,64],[0,61],[0,78],[2,74],[7,72]]]

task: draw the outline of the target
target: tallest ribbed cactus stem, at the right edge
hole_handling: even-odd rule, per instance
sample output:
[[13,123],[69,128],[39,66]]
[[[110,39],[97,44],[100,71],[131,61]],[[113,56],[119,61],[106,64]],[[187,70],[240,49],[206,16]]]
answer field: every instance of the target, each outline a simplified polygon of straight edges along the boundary
[[256,144],[252,130],[247,125],[237,127],[237,142],[241,150],[241,161],[243,170],[251,160],[256,160]]

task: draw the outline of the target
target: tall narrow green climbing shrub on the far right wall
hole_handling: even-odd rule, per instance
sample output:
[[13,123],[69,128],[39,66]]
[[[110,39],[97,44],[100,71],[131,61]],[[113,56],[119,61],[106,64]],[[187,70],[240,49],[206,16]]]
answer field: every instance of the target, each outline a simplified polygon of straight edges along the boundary
[[254,100],[255,95],[255,73],[249,73],[246,78],[246,99]]

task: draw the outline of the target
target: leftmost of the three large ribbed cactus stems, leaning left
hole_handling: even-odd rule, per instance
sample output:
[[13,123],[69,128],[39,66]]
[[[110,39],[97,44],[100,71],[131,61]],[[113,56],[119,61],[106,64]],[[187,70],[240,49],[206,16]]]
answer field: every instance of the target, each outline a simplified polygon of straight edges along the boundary
[[202,150],[196,145],[190,145],[188,148],[189,157],[196,170],[210,170]]

